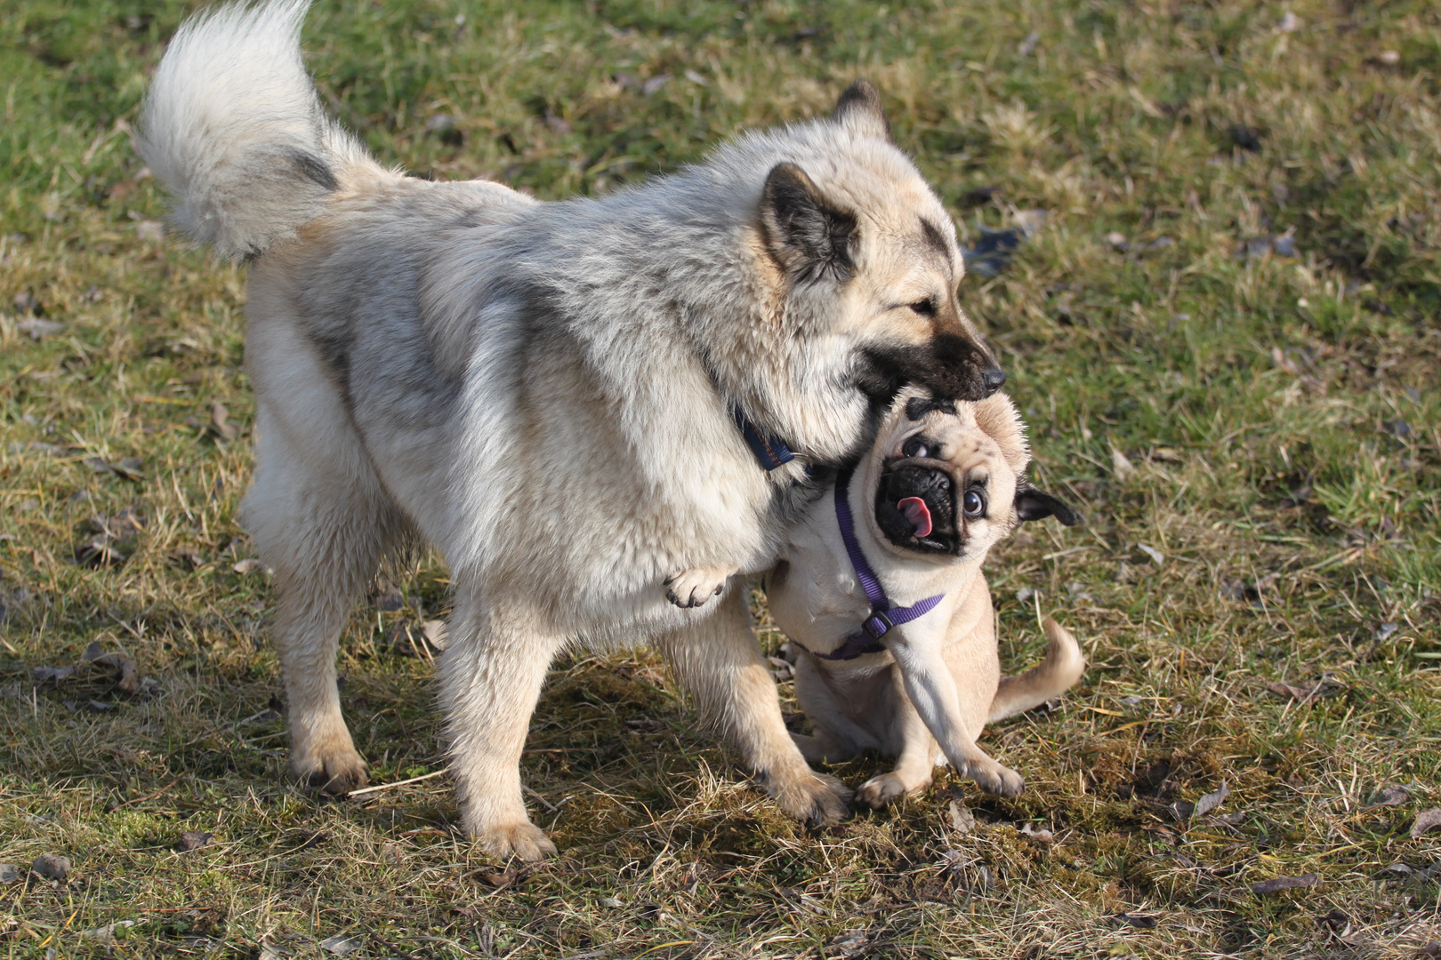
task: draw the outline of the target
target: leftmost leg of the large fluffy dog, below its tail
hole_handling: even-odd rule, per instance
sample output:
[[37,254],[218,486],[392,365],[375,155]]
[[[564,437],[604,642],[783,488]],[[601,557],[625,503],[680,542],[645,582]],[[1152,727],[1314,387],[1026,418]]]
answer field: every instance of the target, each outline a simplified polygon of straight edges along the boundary
[[340,714],[336,652],[350,609],[405,525],[344,438],[330,438],[333,456],[298,449],[265,413],[242,512],[261,560],[275,570],[271,636],[288,701],[290,771],[346,793],[365,784],[366,763]]

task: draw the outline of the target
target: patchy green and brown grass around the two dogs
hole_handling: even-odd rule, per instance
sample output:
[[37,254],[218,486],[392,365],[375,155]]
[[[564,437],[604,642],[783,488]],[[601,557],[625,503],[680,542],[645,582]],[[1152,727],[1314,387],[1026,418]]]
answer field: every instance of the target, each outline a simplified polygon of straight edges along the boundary
[[[235,570],[244,271],[161,235],[130,150],[184,13],[0,6],[0,861],[72,861],[0,882],[6,957],[1412,957],[1441,938],[1441,830],[1411,835],[1441,806],[1432,3],[323,3],[305,43],[326,99],[428,176],[599,193],[866,75],[967,242],[1048,212],[965,288],[1039,475],[1091,520],[991,564],[1007,664],[1039,653],[1038,607],[1092,659],[1056,710],[984,740],[1027,792],[942,774],[810,832],[651,653],[574,655],[525,759],[563,851],[533,872],[455,833],[444,779],[334,802],[281,776],[267,581]],[[444,576],[378,592],[344,642],[378,783],[441,769],[416,625]],[[97,640],[157,682],[121,691],[84,662]],[[213,836],[184,851],[184,832]]]

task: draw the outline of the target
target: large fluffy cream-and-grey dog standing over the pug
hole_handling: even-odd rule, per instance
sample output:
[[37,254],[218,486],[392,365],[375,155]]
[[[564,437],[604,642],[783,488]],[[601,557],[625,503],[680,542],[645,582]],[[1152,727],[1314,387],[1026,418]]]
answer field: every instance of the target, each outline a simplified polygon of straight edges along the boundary
[[[847,792],[787,735],[744,597],[706,600],[772,563],[807,465],[866,449],[905,383],[978,399],[1003,380],[875,89],[644,187],[536,203],[370,160],[305,75],[305,6],[190,20],[140,142],[179,223],[251,263],[244,520],[275,569],[293,771],[365,780],[337,639],[378,564],[425,540],[451,567],[442,699],[486,849],[553,851],[519,760],[578,640],[659,643],[785,810],[842,816]],[[733,412],[798,459],[767,474]]]

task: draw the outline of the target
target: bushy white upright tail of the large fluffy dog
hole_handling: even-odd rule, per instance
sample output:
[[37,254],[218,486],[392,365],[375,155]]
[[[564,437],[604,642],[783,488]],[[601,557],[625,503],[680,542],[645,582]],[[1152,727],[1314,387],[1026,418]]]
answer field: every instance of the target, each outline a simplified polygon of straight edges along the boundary
[[321,213],[344,171],[372,164],[320,107],[300,55],[310,0],[192,17],[146,98],[135,148],[174,194],[174,219],[225,258],[249,258]]

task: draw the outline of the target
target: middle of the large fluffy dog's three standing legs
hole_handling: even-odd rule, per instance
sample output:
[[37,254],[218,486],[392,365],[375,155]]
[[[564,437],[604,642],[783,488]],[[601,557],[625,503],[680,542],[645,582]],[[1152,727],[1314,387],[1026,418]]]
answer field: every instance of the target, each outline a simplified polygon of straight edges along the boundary
[[559,642],[525,610],[457,603],[441,656],[441,698],[461,820],[494,856],[537,861],[555,843],[520,796],[520,753]]

